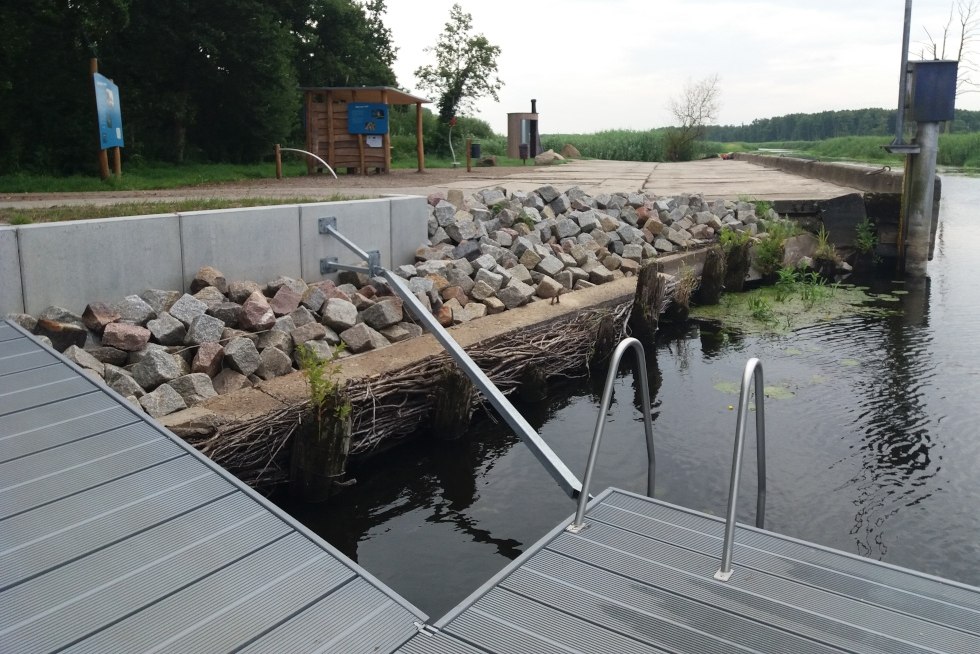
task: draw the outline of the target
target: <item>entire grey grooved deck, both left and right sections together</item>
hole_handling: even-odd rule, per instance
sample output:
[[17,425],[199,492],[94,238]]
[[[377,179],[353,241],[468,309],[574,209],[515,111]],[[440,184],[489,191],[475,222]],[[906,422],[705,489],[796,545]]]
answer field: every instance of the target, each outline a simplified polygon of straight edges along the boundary
[[568,522],[431,621],[0,322],[2,652],[980,652],[980,588],[742,525],[718,581],[721,520],[612,489]]

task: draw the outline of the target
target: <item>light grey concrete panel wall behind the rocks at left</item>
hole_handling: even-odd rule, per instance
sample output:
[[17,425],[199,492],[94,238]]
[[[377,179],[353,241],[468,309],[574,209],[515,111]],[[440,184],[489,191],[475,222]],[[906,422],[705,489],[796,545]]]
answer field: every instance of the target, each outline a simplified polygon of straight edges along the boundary
[[318,233],[317,220],[384,266],[412,263],[427,236],[425,198],[390,197],[322,204],[77,220],[0,227],[0,314],[37,314],[51,305],[81,313],[148,288],[187,291],[201,266],[228,280],[264,283],[281,275],[315,281],[320,258],[356,257]]

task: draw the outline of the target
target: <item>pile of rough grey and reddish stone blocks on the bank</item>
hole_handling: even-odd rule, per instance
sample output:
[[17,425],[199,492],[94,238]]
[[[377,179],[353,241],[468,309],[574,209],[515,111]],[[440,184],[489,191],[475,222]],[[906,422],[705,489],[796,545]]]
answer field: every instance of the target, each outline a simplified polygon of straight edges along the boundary
[[[395,272],[444,326],[635,274],[725,226],[757,231],[751,204],[700,195],[497,188],[433,196],[429,210],[429,242]],[[360,274],[260,285],[204,267],[190,291],[10,317],[154,417],[290,373],[300,345],[329,357],[343,343],[346,356],[422,333],[383,279]]]

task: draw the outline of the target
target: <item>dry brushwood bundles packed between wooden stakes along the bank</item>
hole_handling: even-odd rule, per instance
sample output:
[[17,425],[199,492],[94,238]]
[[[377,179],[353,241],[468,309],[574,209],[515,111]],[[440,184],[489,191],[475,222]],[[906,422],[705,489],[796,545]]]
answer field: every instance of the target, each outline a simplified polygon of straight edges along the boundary
[[[589,354],[597,325],[612,316],[616,333],[625,335],[632,301],[611,309],[579,313],[556,330],[554,324],[507,334],[467,349],[504,394],[517,390],[522,374],[537,367],[548,379],[588,374]],[[352,404],[352,456],[365,455],[418,431],[428,418],[435,392],[431,381],[451,365],[447,354],[370,379],[348,382],[345,393]],[[474,390],[474,410],[483,404]],[[193,441],[203,454],[258,489],[271,489],[289,478],[289,440],[299,428],[307,405],[289,407],[247,424],[220,428],[211,437]]]

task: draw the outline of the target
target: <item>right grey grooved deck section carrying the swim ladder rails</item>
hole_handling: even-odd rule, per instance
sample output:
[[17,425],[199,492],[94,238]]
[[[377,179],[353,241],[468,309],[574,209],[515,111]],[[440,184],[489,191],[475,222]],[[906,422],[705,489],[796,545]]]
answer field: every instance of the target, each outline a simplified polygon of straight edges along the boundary
[[[405,654],[980,652],[980,588],[610,489]],[[567,523],[566,523],[567,524]]]

